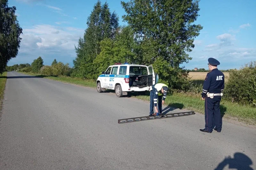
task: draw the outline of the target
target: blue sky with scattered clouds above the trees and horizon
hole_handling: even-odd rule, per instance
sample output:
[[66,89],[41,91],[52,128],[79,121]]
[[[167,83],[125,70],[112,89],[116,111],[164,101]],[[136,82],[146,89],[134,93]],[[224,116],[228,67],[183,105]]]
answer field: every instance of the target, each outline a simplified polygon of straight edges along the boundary
[[[128,0],[124,0],[127,2]],[[30,63],[39,56],[44,65],[57,61],[73,66],[75,47],[87,28],[87,18],[97,0],[9,0],[8,6],[16,7],[16,15],[23,28],[19,54],[8,66]],[[106,1],[102,0],[102,3]],[[120,0],[109,0],[110,11],[125,14]],[[201,0],[196,24],[203,29],[195,38],[195,48],[187,69],[208,69],[207,59],[219,60],[219,69],[241,68],[256,61],[256,1],[255,0]]]

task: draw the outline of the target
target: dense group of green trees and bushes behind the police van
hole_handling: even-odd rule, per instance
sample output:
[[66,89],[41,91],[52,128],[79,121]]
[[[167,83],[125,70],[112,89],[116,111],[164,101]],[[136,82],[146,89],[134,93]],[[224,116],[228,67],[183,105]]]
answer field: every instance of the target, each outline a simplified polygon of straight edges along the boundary
[[171,88],[188,88],[189,62],[194,38],[202,26],[194,24],[199,11],[197,0],[121,1],[126,14],[119,18],[108,3],[98,1],[87,19],[87,28],[75,47],[73,77],[96,79],[116,62],[153,65],[160,80]]

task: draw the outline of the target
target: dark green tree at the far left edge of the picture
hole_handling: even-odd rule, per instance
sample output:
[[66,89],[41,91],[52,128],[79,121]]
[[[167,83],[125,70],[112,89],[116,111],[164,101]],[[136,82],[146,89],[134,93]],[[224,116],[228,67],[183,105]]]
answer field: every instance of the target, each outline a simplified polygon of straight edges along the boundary
[[0,0],[0,74],[11,58],[15,58],[20,47],[20,34],[16,7],[8,7],[8,0]]

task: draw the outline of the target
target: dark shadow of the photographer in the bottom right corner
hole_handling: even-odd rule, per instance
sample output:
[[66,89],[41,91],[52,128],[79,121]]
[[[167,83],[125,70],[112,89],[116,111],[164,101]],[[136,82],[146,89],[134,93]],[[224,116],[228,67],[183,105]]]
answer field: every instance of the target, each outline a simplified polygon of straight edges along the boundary
[[252,160],[240,152],[234,154],[234,158],[230,156],[226,157],[214,170],[223,170],[225,166],[229,166],[229,169],[237,170],[253,170],[250,165],[252,165]]

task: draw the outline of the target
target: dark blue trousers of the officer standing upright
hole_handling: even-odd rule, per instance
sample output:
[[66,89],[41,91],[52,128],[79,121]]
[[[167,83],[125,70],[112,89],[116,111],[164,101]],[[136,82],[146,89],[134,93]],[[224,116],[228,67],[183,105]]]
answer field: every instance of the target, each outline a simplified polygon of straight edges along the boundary
[[205,130],[212,132],[212,129],[217,129],[218,132],[222,128],[221,109],[220,109],[221,96],[214,96],[213,98],[205,98],[204,103],[204,116],[205,116]]

